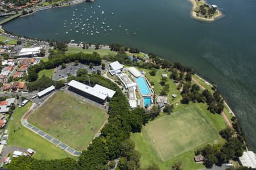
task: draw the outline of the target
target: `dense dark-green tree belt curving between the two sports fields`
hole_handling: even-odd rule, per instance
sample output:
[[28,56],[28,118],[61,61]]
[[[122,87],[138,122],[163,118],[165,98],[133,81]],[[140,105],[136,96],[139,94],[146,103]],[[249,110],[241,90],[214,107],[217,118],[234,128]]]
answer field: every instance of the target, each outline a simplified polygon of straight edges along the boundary
[[[89,84],[87,74],[79,77],[69,76],[68,81],[75,79]],[[31,158],[15,158],[9,165],[12,169],[109,169],[110,160],[119,159],[118,167],[123,169],[138,169],[140,154],[134,150],[134,143],[129,140],[131,132],[140,132],[150,116],[143,108],[130,111],[125,95],[116,84],[96,74],[90,74],[90,83],[108,87],[116,94],[109,103],[109,124],[101,131],[100,137],[93,139],[87,150],[82,151],[79,161],[67,161],[62,165],[52,165],[46,160]],[[26,159],[26,160],[24,160]],[[54,161],[54,160],[52,160]],[[62,160],[57,160],[61,162]],[[38,165],[37,165],[38,164]],[[38,167],[42,165],[42,167]],[[59,166],[59,167],[56,167]],[[36,168],[34,168],[36,167]]]

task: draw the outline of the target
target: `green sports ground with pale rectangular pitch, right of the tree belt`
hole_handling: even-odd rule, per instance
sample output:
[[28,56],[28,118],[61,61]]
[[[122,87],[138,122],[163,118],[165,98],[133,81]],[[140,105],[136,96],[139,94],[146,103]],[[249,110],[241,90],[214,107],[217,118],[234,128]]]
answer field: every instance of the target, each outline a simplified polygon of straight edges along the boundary
[[221,115],[209,113],[205,104],[183,105],[170,116],[162,115],[143,127],[142,133],[131,134],[141,152],[142,168],[151,163],[160,169],[171,169],[180,160],[183,169],[200,169],[193,162],[193,151],[208,143],[223,143],[218,131],[226,127]]

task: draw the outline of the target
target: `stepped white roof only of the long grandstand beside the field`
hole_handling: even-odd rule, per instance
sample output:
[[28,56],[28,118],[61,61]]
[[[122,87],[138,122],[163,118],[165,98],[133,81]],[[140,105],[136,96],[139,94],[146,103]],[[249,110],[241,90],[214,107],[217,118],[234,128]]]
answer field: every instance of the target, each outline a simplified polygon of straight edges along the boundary
[[99,99],[102,99],[102,100],[106,100],[106,97],[108,96],[113,97],[115,94],[115,91],[110,90],[109,88],[100,86],[98,84],[96,84],[94,87],[90,87],[83,83],[77,82],[76,80],[71,80],[71,82],[68,83],[68,86],[71,86],[80,91],[86,92],[87,94],[98,97]]

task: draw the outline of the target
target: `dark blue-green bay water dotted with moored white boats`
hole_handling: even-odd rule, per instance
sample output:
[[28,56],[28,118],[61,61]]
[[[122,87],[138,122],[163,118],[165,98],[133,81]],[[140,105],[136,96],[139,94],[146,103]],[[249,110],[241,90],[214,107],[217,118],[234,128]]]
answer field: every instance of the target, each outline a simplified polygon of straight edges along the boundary
[[[39,39],[73,39],[100,44],[118,42],[191,66],[209,82],[217,84],[225,100],[241,119],[249,148],[256,151],[256,1],[208,2],[223,8],[225,16],[213,23],[192,19],[192,5],[187,0],[97,0],[39,11],[15,19],[3,28],[20,36]],[[76,16],[72,16],[74,11]],[[101,11],[105,11],[104,15]],[[91,20],[86,23],[90,15],[96,23]],[[75,28],[69,31],[75,27],[75,21],[79,23],[79,19],[90,23],[90,28],[86,25],[82,31],[80,24],[79,32],[75,33]],[[64,28],[64,20],[67,20],[69,28]],[[92,25],[98,28],[100,34],[94,31],[93,36],[86,35],[85,30],[90,31]],[[100,28],[103,26],[106,31]]]

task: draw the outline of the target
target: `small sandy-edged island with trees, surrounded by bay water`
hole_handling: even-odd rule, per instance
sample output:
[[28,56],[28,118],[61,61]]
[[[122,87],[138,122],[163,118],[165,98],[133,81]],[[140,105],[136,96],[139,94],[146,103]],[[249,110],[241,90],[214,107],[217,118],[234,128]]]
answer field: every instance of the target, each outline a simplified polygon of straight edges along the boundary
[[208,5],[204,0],[190,0],[193,4],[191,15],[195,19],[214,21],[222,16],[216,5]]

